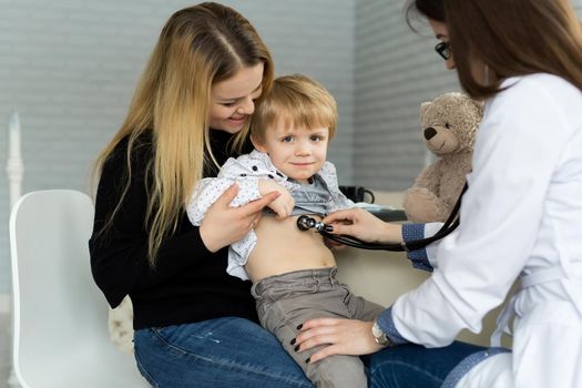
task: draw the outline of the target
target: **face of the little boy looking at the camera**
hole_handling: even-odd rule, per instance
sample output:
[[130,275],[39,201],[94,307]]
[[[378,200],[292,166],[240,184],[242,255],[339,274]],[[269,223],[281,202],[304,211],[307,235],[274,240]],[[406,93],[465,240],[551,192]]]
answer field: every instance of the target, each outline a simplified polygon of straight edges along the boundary
[[255,147],[267,153],[282,173],[302,183],[315,175],[326,161],[328,127],[286,127],[284,120],[279,120],[266,129],[264,137],[262,144],[253,142]]

